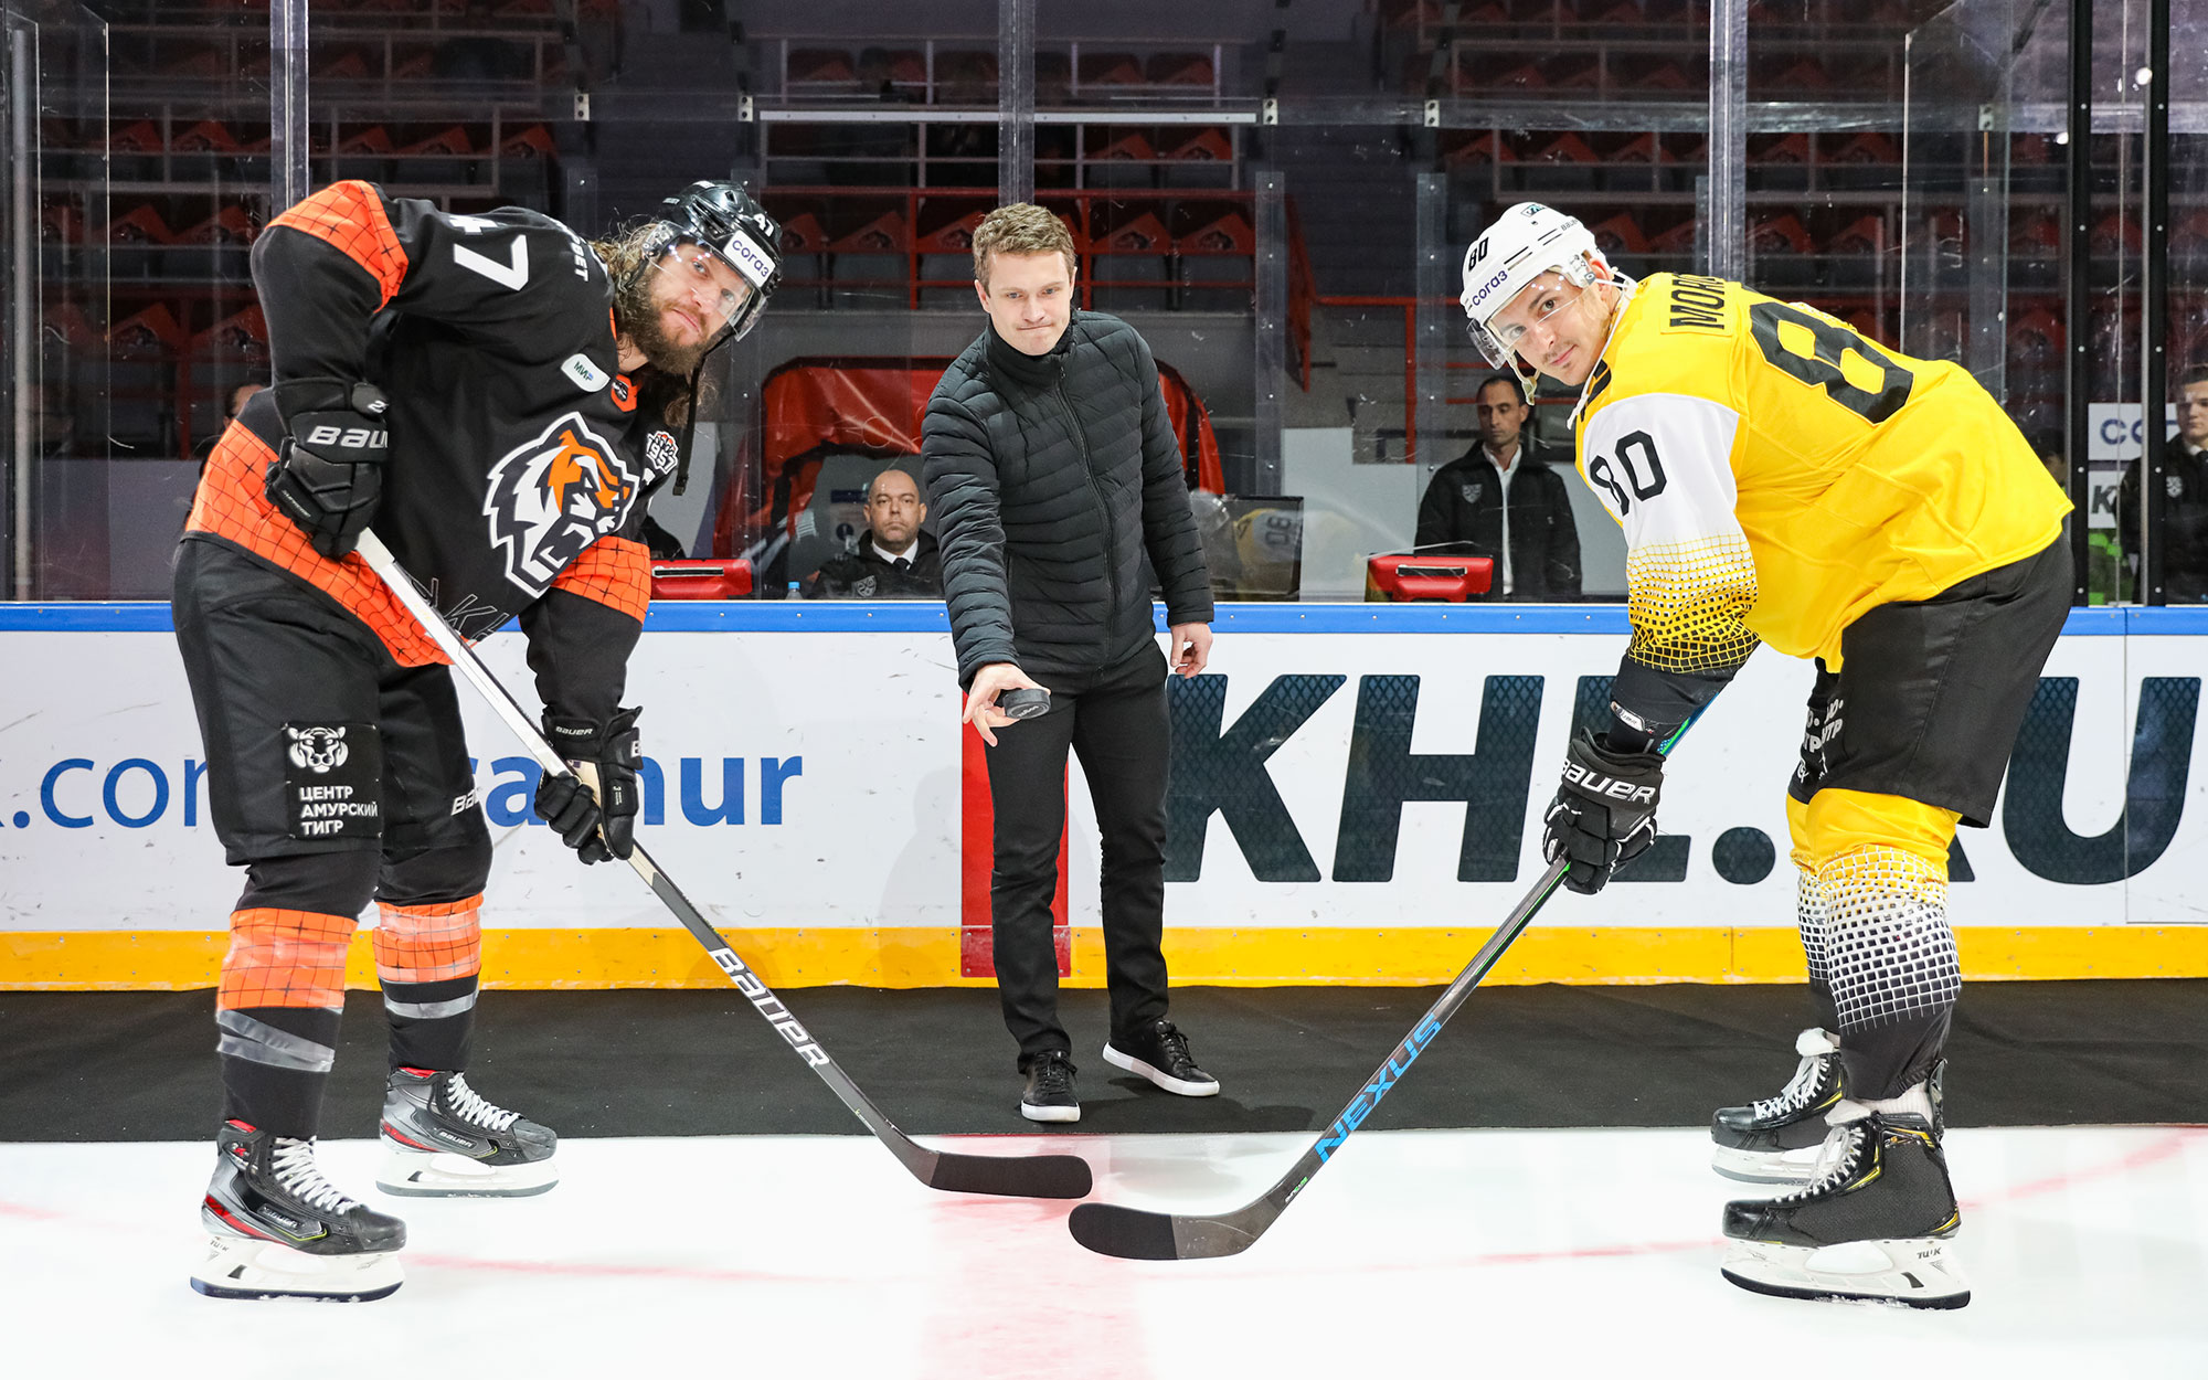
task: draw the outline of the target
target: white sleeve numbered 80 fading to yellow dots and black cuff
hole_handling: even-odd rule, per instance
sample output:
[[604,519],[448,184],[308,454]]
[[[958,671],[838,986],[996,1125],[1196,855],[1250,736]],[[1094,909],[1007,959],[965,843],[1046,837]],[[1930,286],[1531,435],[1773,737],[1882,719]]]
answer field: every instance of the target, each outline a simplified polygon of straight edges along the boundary
[[1581,473],[1625,528],[1632,647],[1612,691],[1636,729],[1685,724],[1755,651],[1755,556],[1733,512],[1740,413],[1687,393],[1621,397],[1581,433]]

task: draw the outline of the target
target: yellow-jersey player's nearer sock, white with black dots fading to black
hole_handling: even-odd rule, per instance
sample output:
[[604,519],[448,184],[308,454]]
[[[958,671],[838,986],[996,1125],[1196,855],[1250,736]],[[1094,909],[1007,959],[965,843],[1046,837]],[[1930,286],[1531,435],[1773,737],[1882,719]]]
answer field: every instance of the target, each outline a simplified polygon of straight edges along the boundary
[[1853,848],[1817,868],[1817,892],[1848,1093],[1899,1097],[1930,1073],[1963,987],[1945,866],[1901,848]]

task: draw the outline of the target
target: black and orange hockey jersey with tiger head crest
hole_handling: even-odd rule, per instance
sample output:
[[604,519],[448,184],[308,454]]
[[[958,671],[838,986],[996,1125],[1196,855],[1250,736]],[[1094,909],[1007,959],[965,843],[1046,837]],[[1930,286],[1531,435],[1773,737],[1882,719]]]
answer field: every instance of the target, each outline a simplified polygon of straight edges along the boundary
[[[530,210],[479,216],[336,183],[269,223],[254,285],[276,382],[369,380],[391,459],[371,523],[466,638],[510,618],[556,713],[603,720],[643,627],[645,495],[676,437],[620,373],[605,265]],[[360,556],[329,561],[263,495],[283,422],[254,395],[201,477],[185,539],[316,585],[400,665],[444,660]]]

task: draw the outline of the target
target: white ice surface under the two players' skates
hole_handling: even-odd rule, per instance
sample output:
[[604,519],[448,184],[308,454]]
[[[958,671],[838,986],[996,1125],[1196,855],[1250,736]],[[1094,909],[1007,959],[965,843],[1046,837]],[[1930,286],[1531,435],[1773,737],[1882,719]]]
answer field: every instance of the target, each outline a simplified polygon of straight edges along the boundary
[[[1091,1201],[1210,1212],[1309,1137],[938,1144],[1073,1150]],[[1135,1263],[1075,1245],[1071,1203],[934,1192],[870,1137],[572,1139],[543,1197],[373,1195],[408,1223],[406,1285],[309,1305],[188,1287],[212,1144],[0,1144],[0,1373],[2208,1376],[2208,1128],[1950,1133],[1961,1312],[1724,1283],[1742,1186],[1707,1153],[1698,1130],[1365,1133],[1245,1254]],[[375,1161],[322,1148],[353,1192]]]

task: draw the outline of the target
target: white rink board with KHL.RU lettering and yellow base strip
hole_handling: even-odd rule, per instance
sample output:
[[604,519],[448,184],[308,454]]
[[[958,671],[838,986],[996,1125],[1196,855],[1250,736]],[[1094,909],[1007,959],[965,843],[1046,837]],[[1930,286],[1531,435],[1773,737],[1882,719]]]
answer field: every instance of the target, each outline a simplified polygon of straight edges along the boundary
[[[1234,605],[1172,687],[1179,983],[1455,974],[1539,872],[1618,607]],[[0,987],[197,987],[241,877],[208,826],[166,605],[0,605]],[[519,634],[484,643],[534,709]],[[2208,609],[2082,609],[1952,914],[1974,976],[2208,976],[2197,733]],[[1660,852],[1559,896],[1495,980],[1791,980],[1784,786],[1811,667],[1758,654],[1665,782]],[[987,983],[987,830],[941,605],[656,605],[640,839],[771,983]],[[468,693],[497,839],[486,978],[724,978],[627,868],[530,819],[537,768]],[[1013,729],[1018,731],[1018,729]],[[1967,872],[1967,881],[1963,879]],[[1071,782],[1073,985],[1102,976],[1095,821]],[[373,978],[364,945],[353,978]]]

